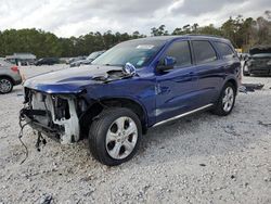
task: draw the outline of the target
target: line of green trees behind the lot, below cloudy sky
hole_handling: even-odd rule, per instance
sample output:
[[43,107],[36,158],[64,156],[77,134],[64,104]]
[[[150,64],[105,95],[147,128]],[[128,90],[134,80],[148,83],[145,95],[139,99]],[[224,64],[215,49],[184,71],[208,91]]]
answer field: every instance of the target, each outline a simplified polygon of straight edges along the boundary
[[[214,35],[230,39],[235,48],[248,50],[253,46],[271,46],[271,11],[266,11],[257,18],[242,15],[230,17],[220,27],[212,24],[199,26],[184,25],[177,27],[172,33],[166,29],[165,25],[151,28],[151,36],[167,35]],[[41,29],[7,29],[0,31],[0,56],[13,54],[15,52],[30,52],[37,58],[57,56],[69,58],[77,55],[88,55],[93,51],[107,50],[113,46],[129,39],[146,37],[139,31],[127,33],[89,33],[79,37],[62,38],[52,33]]]

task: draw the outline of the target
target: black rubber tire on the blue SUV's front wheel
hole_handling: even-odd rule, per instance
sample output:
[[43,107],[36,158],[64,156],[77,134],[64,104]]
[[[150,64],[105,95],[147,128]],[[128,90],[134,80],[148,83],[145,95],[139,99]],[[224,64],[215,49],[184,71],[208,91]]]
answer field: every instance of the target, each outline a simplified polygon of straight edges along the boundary
[[[137,141],[133,142],[134,146],[133,146],[132,151],[126,157],[114,158],[109,155],[109,150],[108,150],[109,148],[112,148],[112,151],[113,151],[113,149],[115,149],[117,144],[118,144],[118,146],[121,145],[119,148],[118,155],[121,155],[120,152],[126,153],[126,152],[129,152],[131,150],[130,149],[128,151],[128,149],[125,148],[125,144],[121,143],[121,142],[126,142],[126,141],[115,140],[115,141],[106,143],[106,138],[107,138],[108,131],[112,131],[113,126],[116,126],[118,128],[118,125],[116,125],[116,120],[120,119],[120,118],[127,118],[128,120],[129,119],[133,120],[134,122],[133,125],[136,125],[136,127],[137,127],[138,136],[136,137],[136,135],[130,135],[132,138],[133,137],[137,138]],[[124,124],[126,122],[124,122]],[[128,122],[128,123],[130,124],[130,122]],[[124,130],[125,130],[125,127],[124,127]],[[117,132],[118,132],[118,130],[117,130]],[[117,135],[117,132],[116,132],[116,135]],[[128,138],[130,138],[130,136],[127,137],[127,140],[129,140]],[[118,133],[117,137],[121,137],[121,136]],[[125,137],[125,136],[122,136],[122,137]],[[120,165],[121,163],[125,163],[133,157],[133,155],[139,150],[141,138],[142,138],[142,127],[141,127],[141,122],[140,122],[138,115],[134,114],[129,109],[112,107],[112,109],[104,110],[92,122],[92,124],[90,126],[90,130],[89,130],[89,149],[90,149],[90,152],[93,155],[93,157],[95,160],[98,160],[99,162],[101,162],[102,164],[107,165],[107,166],[116,166],[116,165]]]

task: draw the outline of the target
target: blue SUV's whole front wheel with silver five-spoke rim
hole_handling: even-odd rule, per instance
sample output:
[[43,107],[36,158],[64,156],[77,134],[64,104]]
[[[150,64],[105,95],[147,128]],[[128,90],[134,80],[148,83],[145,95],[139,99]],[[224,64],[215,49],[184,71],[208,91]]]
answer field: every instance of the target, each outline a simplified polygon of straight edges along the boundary
[[116,166],[133,157],[140,146],[140,119],[129,109],[104,110],[91,124],[89,148],[102,164]]

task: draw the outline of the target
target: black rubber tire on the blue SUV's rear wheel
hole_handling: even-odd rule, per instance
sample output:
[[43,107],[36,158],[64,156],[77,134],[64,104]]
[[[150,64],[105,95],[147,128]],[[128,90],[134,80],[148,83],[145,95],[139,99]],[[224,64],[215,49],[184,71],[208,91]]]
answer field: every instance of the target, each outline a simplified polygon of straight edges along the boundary
[[[224,103],[223,103],[223,99],[225,97],[225,91],[231,89],[233,91],[233,98],[232,98],[232,104],[231,104],[231,107],[228,107],[228,109],[224,109]],[[236,98],[236,87],[234,85],[232,85],[231,82],[227,82],[220,93],[220,97],[217,101],[217,104],[215,106],[215,109],[212,110],[212,113],[215,113],[216,115],[220,115],[220,116],[227,116],[229,115],[233,107],[234,107],[234,104],[235,104],[235,98]],[[229,99],[230,100],[230,99]]]

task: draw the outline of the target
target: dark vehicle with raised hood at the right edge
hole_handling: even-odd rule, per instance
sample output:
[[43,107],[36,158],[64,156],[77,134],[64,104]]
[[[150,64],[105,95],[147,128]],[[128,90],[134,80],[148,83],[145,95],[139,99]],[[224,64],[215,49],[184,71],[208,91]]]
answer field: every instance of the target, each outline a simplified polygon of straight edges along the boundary
[[249,50],[243,75],[271,75],[271,47],[255,47]]

